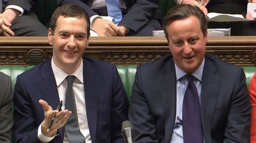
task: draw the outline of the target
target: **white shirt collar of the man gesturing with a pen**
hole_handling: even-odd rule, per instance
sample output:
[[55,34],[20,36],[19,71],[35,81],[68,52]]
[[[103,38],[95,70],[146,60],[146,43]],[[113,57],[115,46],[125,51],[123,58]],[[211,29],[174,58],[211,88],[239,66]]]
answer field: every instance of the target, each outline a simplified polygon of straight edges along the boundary
[[[81,59],[82,60],[82,59]],[[53,60],[51,61],[51,66],[52,66],[52,71],[53,71],[53,75],[55,77],[55,81],[56,81],[56,84],[57,86],[59,86],[63,80],[69,75],[67,73],[65,73],[64,71],[61,71],[60,68],[58,68],[54,63],[53,63]],[[79,68],[77,68],[77,70],[72,73],[71,75],[73,76],[76,76],[77,79],[82,83],[84,84],[84,77],[82,75],[82,62],[79,66]]]

